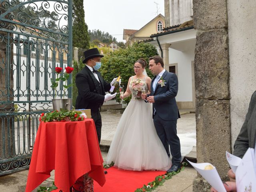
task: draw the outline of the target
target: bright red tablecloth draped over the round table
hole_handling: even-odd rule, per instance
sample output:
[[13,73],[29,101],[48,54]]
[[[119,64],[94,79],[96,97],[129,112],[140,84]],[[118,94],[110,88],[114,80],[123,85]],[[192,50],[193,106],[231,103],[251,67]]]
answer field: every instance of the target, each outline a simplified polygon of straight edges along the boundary
[[88,173],[100,186],[106,182],[94,121],[41,122],[32,152],[26,192],[31,192],[55,170],[55,185],[69,192]]

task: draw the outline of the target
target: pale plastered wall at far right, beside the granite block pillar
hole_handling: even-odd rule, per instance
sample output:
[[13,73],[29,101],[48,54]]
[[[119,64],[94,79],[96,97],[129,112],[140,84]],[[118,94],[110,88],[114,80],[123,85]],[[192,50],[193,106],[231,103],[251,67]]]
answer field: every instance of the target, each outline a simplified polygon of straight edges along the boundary
[[255,0],[227,0],[232,148],[256,90],[255,7]]

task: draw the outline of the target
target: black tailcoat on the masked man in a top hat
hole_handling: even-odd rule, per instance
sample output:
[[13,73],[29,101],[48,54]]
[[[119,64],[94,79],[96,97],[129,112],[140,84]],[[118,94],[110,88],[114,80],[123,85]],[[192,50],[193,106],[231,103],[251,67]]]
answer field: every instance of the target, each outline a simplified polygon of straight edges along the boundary
[[91,109],[95,112],[104,103],[105,92],[109,91],[111,86],[102,78],[100,72],[96,73],[100,82],[87,66],[76,75],[76,109]]

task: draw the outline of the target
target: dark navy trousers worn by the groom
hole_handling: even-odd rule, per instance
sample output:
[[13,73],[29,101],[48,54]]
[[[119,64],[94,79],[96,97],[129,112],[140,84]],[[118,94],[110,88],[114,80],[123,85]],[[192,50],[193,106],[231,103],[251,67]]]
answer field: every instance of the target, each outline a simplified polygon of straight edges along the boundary
[[[157,113],[153,117],[156,133],[162,141],[164,148],[170,157],[170,151],[172,154],[172,164],[180,165],[181,153],[180,153],[180,139],[177,136],[177,120],[163,120]],[[170,150],[169,150],[170,146]]]

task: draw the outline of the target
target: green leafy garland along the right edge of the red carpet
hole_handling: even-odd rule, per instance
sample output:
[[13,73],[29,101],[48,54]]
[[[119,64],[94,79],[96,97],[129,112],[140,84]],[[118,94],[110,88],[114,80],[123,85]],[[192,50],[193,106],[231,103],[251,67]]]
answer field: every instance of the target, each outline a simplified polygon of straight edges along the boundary
[[155,178],[154,181],[149,182],[147,185],[144,185],[142,188],[137,188],[135,190],[135,192],[146,192],[146,191],[155,190],[158,186],[163,185],[163,183],[166,180],[169,180],[170,178],[172,178],[173,175],[176,175],[180,171],[184,170],[184,168],[186,166],[188,166],[188,164],[186,162],[182,162],[181,168],[177,172],[174,171],[174,172],[166,173],[166,174],[163,174],[163,175],[159,175]]

